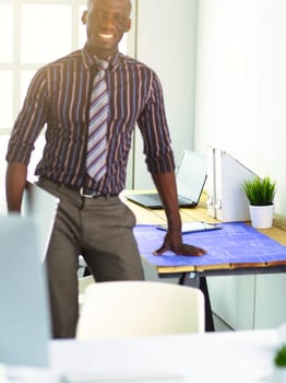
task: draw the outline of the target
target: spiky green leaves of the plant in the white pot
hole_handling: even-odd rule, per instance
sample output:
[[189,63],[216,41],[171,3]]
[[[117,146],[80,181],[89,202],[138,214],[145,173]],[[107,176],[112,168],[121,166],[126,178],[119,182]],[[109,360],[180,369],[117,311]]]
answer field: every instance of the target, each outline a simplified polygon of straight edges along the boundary
[[272,205],[276,193],[276,183],[272,182],[270,176],[260,178],[255,176],[251,181],[245,181],[245,194],[252,206]]

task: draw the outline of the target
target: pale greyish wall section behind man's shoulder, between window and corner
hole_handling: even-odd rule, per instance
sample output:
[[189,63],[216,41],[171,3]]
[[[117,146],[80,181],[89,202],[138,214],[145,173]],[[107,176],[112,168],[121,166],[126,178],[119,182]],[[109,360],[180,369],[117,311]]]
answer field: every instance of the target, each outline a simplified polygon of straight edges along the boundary
[[[136,58],[158,74],[176,160],[193,147],[198,0],[138,0]],[[135,137],[134,187],[154,187]]]

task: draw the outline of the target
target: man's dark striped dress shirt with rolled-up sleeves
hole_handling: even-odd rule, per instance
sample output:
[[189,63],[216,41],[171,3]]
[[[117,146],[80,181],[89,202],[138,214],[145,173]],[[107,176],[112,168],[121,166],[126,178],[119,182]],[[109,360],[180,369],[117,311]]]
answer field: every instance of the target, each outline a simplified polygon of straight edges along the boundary
[[96,59],[85,46],[39,69],[28,88],[9,141],[7,161],[28,164],[45,128],[46,146],[35,174],[65,185],[118,194],[126,183],[132,131],[138,124],[151,173],[175,169],[162,86],[147,66],[121,54],[109,60],[107,172],[86,175],[88,107]]

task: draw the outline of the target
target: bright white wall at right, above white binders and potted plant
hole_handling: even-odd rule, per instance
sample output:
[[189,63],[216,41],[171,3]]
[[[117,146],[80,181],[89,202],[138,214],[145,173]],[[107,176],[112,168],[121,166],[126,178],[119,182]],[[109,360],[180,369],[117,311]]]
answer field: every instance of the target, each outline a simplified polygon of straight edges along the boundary
[[199,1],[194,138],[276,179],[284,216],[285,20],[285,0]]

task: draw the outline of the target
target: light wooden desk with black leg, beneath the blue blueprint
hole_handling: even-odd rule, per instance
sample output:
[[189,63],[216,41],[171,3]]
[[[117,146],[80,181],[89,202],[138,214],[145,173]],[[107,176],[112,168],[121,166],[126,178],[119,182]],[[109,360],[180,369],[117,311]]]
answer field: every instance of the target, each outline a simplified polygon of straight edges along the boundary
[[[138,217],[139,223],[157,224],[157,223],[162,223],[165,220],[165,213],[162,210],[147,210],[140,206],[135,206],[134,204],[131,204],[131,202],[128,202],[128,205]],[[207,216],[203,200],[198,208],[181,209],[180,212],[181,212],[182,221],[204,220],[208,222],[217,222],[216,220]],[[141,216],[142,213],[143,216]],[[253,229],[250,229],[250,230],[254,231]],[[259,232],[266,234],[267,236],[272,237],[275,241],[278,241],[283,245],[286,244],[285,231],[278,228],[260,230]],[[214,233],[214,235],[216,234]],[[217,232],[217,236],[219,236],[218,232]],[[188,242],[193,243],[192,242],[193,237],[189,237]],[[158,244],[160,240],[158,241]],[[203,241],[193,243],[193,244],[201,245],[202,247],[204,247]],[[154,245],[154,247],[156,246]],[[283,248],[283,252],[284,252],[284,248]],[[208,299],[208,291],[207,291],[207,286],[204,277],[218,276],[218,275],[226,276],[226,275],[274,274],[274,272],[285,272],[286,270],[286,249],[285,249],[285,255],[283,254],[282,257],[277,259],[275,258],[267,259],[266,262],[260,262],[260,260],[253,262],[253,259],[252,260],[246,259],[245,263],[226,262],[225,264],[223,263],[212,264],[210,262],[208,264],[202,265],[202,263],[200,262],[201,260],[200,258],[188,257],[192,262],[189,265],[186,265],[186,264],[178,265],[178,263],[174,263],[174,265],[171,264],[162,265],[162,264],[156,264],[159,257],[153,257],[152,259],[152,257],[146,256],[146,254],[143,254],[143,253],[142,253],[142,257],[143,257],[143,260],[145,258],[148,263],[152,264],[152,266],[156,269],[156,272],[160,278],[169,278],[169,277],[178,276],[178,278],[180,278],[181,283],[196,286],[203,290],[206,298],[206,329],[207,330],[213,329],[213,323],[212,323],[212,312],[211,312],[211,303]]]

